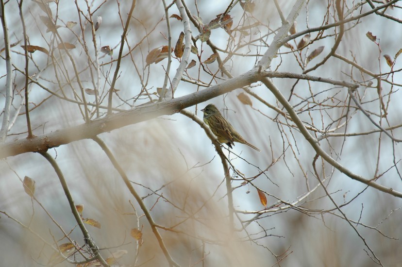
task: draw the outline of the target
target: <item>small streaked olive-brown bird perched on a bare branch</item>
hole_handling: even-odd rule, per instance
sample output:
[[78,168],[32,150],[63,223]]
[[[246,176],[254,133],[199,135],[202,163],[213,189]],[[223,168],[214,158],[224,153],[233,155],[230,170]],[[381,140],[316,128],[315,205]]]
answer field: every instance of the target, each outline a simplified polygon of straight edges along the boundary
[[204,112],[204,122],[209,126],[212,133],[214,133],[218,137],[219,143],[226,144],[230,148],[232,148],[234,142],[239,142],[248,145],[252,149],[261,151],[246,140],[244,140],[244,138],[241,137],[241,135],[237,133],[236,130],[234,130],[229,121],[227,121],[222,116],[222,114],[220,114],[215,105],[209,104],[204,109],[201,109],[201,111]]

